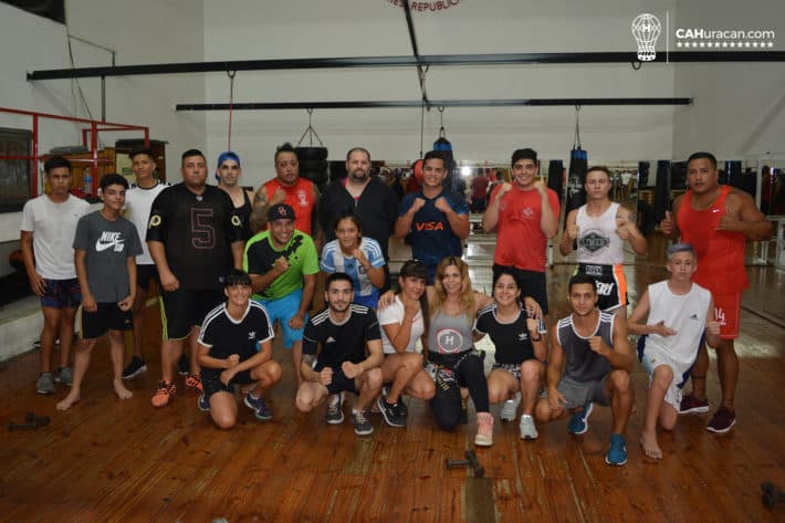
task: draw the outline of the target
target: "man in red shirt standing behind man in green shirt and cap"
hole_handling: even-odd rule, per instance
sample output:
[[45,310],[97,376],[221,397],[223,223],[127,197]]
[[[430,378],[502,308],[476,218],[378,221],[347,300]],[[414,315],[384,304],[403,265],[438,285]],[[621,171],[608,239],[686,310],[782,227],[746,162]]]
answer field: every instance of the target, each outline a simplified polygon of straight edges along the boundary
[[285,143],[275,150],[275,178],[262,185],[253,197],[251,229],[254,232],[268,227],[268,210],[276,203],[286,203],[297,217],[294,228],[312,237],[318,237],[316,205],[320,199],[316,185],[300,177],[300,163],[292,144]]

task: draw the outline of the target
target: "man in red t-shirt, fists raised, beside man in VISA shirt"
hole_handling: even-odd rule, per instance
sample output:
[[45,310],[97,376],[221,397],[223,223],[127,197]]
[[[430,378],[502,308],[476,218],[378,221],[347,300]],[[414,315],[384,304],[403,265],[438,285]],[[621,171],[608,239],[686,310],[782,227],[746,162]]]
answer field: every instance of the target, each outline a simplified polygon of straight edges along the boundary
[[556,192],[537,178],[540,165],[533,149],[512,154],[513,182],[491,192],[491,203],[482,217],[482,228],[498,231],[493,257],[493,279],[502,269],[513,271],[521,294],[532,296],[548,312],[545,291],[545,250],[547,240],[558,232],[559,203]]

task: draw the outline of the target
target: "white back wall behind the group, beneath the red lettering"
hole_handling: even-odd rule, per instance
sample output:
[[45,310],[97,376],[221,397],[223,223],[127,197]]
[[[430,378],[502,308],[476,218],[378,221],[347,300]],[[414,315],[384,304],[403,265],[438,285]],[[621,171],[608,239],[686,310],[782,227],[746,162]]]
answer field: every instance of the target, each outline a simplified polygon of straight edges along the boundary
[[[673,9],[673,1],[577,4],[462,0],[442,13],[415,13],[421,54],[630,51],[631,20],[642,11]],[[653,6],[653,7],[652,7]],[[653,11],[652,11],[653,12]],[[352,2],[295,0],[205,1],[206,60],[314,56],[410,55],[401,8],[386,0]],[[427,76],[431,100],[532,97],[674,96],[674,70],[664,65],[632,71],[603,66],[433,67]],[[228,102],[224,74],[207,76],[207,101]],[[236,102],[325,100],[419,100],[414,69],[240,72]],[[184,102],[198,102],[184,100]],[[583,146],[592,160],[669,158],[674,109],[585,107]],[[228,113],[208,113],[211,163],[227,146]],[[276,145],[296,140],[307,125],[305,111],[236,112],[232,148],[243,160],[245,182],[273,176]],[[314,127],[341,159],[355,145],[375,158],[404,161],[420,150],[419,109],[335,109],[314,113]],[[543,158],[566,158],[573,144],[573,107],[448,108],[444,127],[459,158],[509,161],[520,146]],[[439,113],[425,121],[425,149],[437,138]]]

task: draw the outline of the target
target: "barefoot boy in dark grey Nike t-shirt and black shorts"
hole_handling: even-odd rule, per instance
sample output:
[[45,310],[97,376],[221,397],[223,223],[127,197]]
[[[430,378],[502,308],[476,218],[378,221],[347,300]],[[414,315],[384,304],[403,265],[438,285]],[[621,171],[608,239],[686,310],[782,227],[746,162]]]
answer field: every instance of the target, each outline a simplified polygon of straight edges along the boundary
[[132,328],[130,308],[136,292],[136,260],[142,243],[136,227],[121,215],[128,181],[117,174],[101,179],[101,210],[82,217],[74,237],[76,278],[82,289],[82,339],[74,356],[71,393],[56,405],[67,410],[80,400],[82,379],[95,342],[108,332],[114,390],[119,399],[130,398],[123,385],[123,331]]

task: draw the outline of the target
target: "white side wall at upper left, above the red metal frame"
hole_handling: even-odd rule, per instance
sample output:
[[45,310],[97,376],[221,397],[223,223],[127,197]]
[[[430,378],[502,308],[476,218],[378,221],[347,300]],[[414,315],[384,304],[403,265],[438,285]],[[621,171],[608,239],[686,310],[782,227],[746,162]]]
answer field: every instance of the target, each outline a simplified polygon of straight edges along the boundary
[[[203,15],[200,2],[190,0],[69,0],[66,19],[71,34],[117,51],[117,65],[202,61],[205,57]],[[72,82],[30,83],[25,73],[70,66],[65,27],[0,3],[0,106],[88,117]],[[72,41],[76,66],[111,65],[111,55]],[[95,119],[101,118],[101,81],[80,80]],[[168,140],[167,171],[178,179],[180,154],[186,148],[205,148],[203,114],[175,112],[181,97],[203,100],[201,75],[155,75],[108,77],[106,119],[146,125],[150,136]],[[0,113],[0,126],[31,128],[29,117]],[[41,122],[39,150],[53,146],[80,145],[82,126],[55,121]],[[140,133],[105,133],[105,145],[117,138],[140,138]],[[0,242],[19,238],[20,213],[0,216]],[[4,260],[2,261],[4,262]]]

